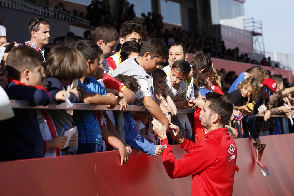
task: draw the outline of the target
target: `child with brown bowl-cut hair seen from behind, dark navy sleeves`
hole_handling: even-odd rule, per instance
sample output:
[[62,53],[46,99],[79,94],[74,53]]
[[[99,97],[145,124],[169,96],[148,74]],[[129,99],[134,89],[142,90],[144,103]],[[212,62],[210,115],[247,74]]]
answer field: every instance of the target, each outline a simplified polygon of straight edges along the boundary
[[[80,99],[80,93],[77,87],[72,90],[70,87],[64,88],[68,83],[83,76],[86,72],[85,60],[81,53],[73,48],[55,47],[51,50],[50,55],[45,63],[45,75],[48,82],[47,91],[50,100],[54,104],[64,103],[65,97],[69,98],[72,103],[77,103]],[[66,131],[75,126],[72,116],[66,110],[47,110],[46,111],[54,122],[57,135],[62,136],[63,128],[66,124]],[[76,131],[73,137],[77,137]],[[71,141],[74,138],[71,138]],[[75,155],[78,144],[69,146],[69,149],[61,151],[62,155]]]

